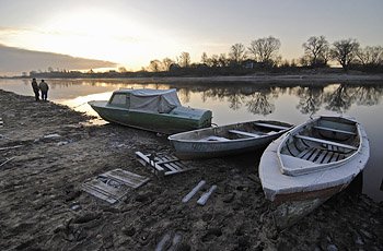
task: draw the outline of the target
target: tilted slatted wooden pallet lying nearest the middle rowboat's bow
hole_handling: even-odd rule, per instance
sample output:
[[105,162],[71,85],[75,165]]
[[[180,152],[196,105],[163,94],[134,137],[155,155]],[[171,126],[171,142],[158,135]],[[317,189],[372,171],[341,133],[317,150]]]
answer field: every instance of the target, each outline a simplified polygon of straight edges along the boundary
[[179,158],[165,154],[143,154],[136,152],[138,160],[159,177],[170,176],[195,169],[187,167]]

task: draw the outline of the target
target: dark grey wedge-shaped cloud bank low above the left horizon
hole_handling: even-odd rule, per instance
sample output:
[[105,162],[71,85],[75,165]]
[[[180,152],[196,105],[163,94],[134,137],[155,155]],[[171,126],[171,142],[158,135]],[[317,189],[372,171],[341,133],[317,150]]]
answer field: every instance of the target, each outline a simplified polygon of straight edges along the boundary
[[0,44],[0,75],[20,75],[22,72],[53,69],[86,70],[115,68],[117,63],[68,55],[26,50]]

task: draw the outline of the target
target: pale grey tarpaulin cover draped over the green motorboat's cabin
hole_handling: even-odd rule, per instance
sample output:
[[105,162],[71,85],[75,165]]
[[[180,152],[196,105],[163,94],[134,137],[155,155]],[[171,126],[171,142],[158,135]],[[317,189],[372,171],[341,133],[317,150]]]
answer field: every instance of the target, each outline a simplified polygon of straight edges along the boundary
[[172,89],[131,89],[130,109],[167,113],[181,106],[177,92]]

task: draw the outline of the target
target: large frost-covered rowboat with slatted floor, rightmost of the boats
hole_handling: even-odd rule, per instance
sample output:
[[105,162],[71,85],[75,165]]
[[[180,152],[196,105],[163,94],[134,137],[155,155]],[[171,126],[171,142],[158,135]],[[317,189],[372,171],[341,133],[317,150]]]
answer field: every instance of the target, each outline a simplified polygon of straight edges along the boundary
[[259,163],[266,199],[278,228],[293,225],[363,170],[369,140],[355,119],[321,116],[272,142]]

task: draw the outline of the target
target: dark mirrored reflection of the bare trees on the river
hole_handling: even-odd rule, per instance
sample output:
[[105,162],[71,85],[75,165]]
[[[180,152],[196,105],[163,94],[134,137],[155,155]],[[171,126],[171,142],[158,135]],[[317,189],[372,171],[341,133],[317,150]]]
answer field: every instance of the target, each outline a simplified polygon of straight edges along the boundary
[[347,113],[352,105],[373,106],[382,98],[382,86],[330,84],[327,86],[294,86],[294,87],[211,87],[206,86],[199,92],[190,87],[178,88],[183,103],[190,101],[192,93],[200,93],[202,103],[224,101],[232,110],[243,106],[254,115],[269,115],[276,109],[274,101],[280,95],[289,93],[299,98],[295,108],[302,115],[316,115],[321,108],[335,113]]

